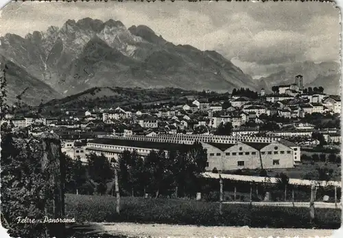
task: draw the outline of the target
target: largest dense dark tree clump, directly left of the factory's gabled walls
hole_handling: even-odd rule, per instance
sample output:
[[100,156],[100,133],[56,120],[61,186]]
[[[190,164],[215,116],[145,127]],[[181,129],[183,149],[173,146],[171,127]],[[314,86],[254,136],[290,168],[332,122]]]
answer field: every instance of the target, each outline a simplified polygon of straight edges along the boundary
[[119,157],[119,184],[124,194],[132,196],[194,196],[206,160],[200,143],[168,153],[152,150],[144,159],[135,150],[125,151]]

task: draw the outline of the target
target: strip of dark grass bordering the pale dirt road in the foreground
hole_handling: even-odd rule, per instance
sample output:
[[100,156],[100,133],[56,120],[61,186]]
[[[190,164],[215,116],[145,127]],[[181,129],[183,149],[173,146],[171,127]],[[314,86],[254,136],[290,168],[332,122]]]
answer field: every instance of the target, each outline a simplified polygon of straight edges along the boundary
[[203,226],[250,226],[269,228],[340,228],[340,209],[316,209],[316,221],[309,224],[309,209],[252,207],[217,202],[176,199],[121,198],[116,213],[113,196],[66,195],[66,215],[76,222],[138,222]]

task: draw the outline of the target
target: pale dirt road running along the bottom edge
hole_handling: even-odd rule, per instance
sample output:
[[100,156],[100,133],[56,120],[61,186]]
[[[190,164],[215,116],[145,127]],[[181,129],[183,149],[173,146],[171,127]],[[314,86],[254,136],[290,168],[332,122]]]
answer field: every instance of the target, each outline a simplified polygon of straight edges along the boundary
[[[92,223],[91,228],[97,233],[125,235],[126,237],[158,238],[246,238],[246,237],[331,237],[335,230],[283,229],[283,228],[248,228],[248,226],[185,226],[168,224],[134,223]],[[342,234],[342,233],[340,233]],[[335,237],[340,237],[335,235]]]

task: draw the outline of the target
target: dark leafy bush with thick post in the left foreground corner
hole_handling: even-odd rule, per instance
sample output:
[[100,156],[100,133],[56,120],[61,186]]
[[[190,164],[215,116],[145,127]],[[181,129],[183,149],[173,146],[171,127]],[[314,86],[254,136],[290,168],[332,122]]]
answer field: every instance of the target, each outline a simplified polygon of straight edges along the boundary
[[54,217],[52,200],[59,185],[51,182],[52,176],[63,174],[46,149],[40,140],[18,139],[1,131],[1,222],[12,237],[56,235],[54,224],[18,222],[18,217]]

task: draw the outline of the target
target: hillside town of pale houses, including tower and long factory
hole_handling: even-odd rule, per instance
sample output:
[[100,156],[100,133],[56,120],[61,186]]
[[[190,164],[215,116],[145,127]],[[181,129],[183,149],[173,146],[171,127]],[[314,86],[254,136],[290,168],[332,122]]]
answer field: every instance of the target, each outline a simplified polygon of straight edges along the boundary
[[65,111],[60,118],[7,114],[1,123],[27,128],[32,136],[57,133],[62,152],[85,163],[90,153],[117,158],[138,148],[147,155],[198,141],[207,150],[208,171],[293,168],[300,148],[340,144],[340,96],[304,88],[301,75],[293,84],[273,86],[272,94],[241,88],[227,101],[189,96],[188,102]]

